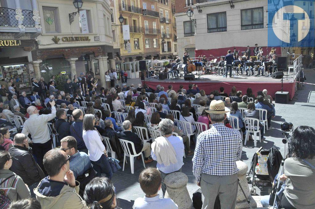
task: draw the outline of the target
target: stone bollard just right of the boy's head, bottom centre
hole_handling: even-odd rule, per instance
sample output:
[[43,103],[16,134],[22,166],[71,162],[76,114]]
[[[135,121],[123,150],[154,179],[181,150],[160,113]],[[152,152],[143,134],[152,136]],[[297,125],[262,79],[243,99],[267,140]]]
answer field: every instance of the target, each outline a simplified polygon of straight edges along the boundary
[[188,177],[182,172],[170,173],[164,178],[166,192],[164,197],[171,198],[179,209],[191,209],[192,199],[187,190]]

